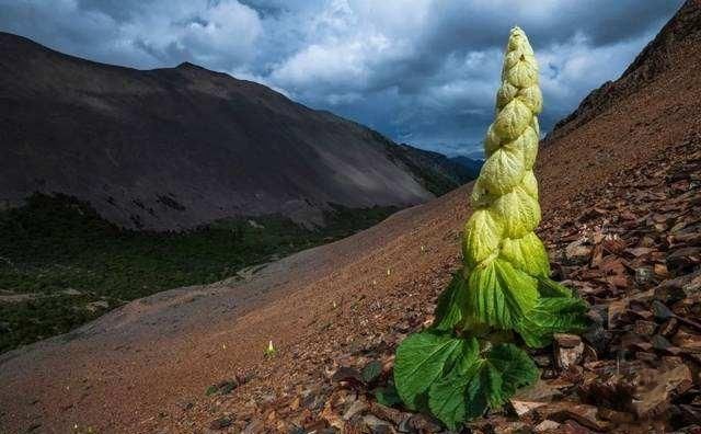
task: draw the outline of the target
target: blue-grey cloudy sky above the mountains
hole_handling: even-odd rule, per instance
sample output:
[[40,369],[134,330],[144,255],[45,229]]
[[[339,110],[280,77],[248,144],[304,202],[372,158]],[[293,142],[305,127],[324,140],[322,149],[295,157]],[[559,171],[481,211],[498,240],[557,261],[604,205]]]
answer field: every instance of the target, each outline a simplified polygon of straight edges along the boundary
[[541,65],[543,129],[616,79],[681,0],[0,0],[0,30],[71,55],[191,61],[397,141],[481,145],[518,24]]

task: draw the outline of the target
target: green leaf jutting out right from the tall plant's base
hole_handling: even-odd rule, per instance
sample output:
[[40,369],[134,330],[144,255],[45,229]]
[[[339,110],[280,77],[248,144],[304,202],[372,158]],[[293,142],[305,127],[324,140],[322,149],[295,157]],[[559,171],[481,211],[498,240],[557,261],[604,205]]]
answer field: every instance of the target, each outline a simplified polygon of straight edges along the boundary
[[552,342],[553,333],[581,332],[586,330],[587,304],[574,297],[542,297],[525,316],[516,331],[528,346],[542,347]]

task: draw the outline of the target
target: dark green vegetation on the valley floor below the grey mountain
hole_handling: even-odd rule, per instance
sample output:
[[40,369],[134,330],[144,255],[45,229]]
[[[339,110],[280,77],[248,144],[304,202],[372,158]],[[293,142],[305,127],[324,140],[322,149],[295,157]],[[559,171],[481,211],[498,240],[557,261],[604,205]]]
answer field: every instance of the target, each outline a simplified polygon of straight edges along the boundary
[[263,216],[143,232],[120,229],[74,198],[33,195],[0,213],[0,352],[65,333],[139,297],[221,281],[347,237],[395,210],[335,206],[318,230]]

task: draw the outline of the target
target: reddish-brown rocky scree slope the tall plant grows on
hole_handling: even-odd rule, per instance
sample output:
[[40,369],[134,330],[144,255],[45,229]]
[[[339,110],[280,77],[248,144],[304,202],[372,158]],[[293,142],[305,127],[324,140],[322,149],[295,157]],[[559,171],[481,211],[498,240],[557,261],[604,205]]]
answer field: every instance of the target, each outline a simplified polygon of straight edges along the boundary
[[[699,8],[690,1],[680,13]],[[539,237],[556,277],[596,306],[596,327],[536,354],[539,388],[476,432],[698,423],[699,31],[667,47],[668,67],[651,81],[541,149]],[[439,432],[375,392],[391,377],[397,343],[432,320],[459,266],[470,187],[249,281],[163,293],[4,355],[0,426]],[[278,355],[266,359],[271,339]]]

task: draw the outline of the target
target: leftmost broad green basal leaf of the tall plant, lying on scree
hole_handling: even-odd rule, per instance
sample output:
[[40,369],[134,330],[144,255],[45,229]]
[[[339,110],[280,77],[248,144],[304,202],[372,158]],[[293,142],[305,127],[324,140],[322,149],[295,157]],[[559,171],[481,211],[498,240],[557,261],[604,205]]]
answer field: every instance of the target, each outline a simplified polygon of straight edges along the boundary
[[422,408],[430,385],[467,353],[467,341],[447,332],[427,330],[406,338],[394,361],[394,384],[406,407]]

